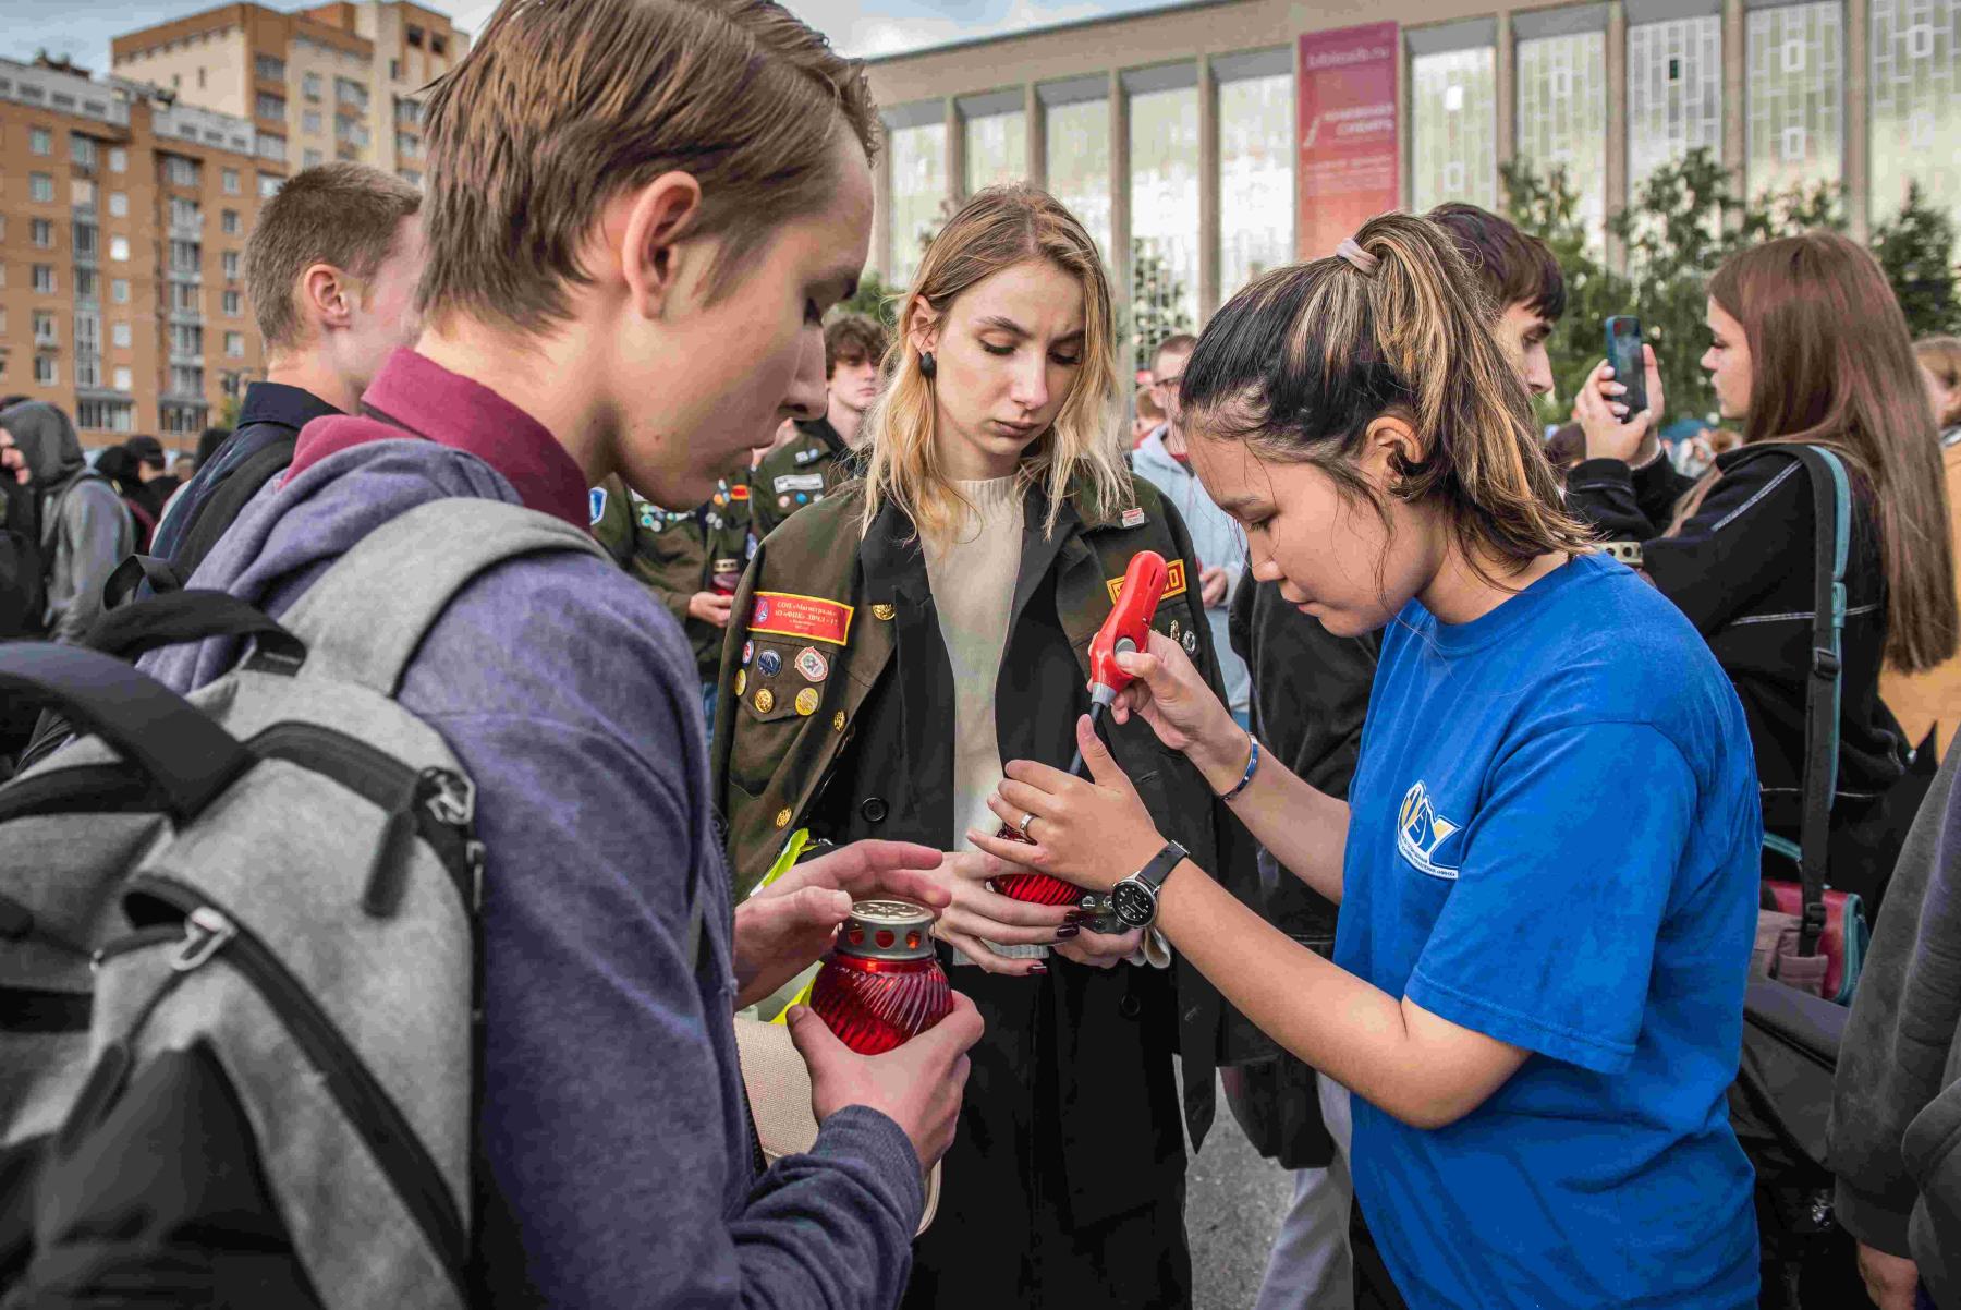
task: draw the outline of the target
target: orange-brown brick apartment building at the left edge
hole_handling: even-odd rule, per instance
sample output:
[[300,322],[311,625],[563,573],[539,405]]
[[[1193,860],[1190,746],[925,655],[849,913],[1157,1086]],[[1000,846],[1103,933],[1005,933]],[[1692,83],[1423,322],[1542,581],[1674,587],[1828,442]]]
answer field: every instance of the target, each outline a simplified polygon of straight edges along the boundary
[[0,59],[0,392],[190,449],[263,377],[241,263],[284,173],[249,120]]

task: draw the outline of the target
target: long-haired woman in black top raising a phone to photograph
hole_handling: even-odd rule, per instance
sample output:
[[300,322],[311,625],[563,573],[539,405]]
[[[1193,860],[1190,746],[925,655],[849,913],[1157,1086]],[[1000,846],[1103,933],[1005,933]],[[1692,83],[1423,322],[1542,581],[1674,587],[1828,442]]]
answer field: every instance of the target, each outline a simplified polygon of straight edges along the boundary
[[1847,237],[1814,231],[1732,255],[1710,278],[1708,328],[1702,367],[1743,445],[1686,482],[1655,445],[1653,349],[1641,414],[1626,412],[1602,363],[1577,404],[1588,457],[1567,480],[1569,508],[1637,545],[1639,567],[1708,637],[1749,718],[1765,830],[1796,841],[1816,524],[1788,447],[1843,459],[1853,504],[1832,884],[1877,914],[1902,835],[1885,802],[1910,761],[1879,673],[1930,669],[1961,639],[1934,410],[1900,304]]

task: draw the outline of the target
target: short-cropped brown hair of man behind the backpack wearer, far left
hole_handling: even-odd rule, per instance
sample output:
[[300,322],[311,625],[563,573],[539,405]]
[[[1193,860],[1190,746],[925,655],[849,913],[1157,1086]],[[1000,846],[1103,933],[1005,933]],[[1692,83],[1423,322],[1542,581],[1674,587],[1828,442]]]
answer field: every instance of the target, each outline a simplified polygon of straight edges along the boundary
[[294,292],[308,267],[375,277],[402,220],[420,208],[420,190],[367,165],[326,163],[286,178],[245,241],[245,296],[267,353],[304,345]]

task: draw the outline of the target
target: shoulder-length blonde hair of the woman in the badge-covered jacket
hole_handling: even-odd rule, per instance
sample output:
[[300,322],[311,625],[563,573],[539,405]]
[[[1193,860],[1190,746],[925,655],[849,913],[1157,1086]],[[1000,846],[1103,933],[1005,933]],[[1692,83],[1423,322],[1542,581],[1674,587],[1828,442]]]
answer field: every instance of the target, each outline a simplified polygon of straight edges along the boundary
[[1022,453],[1018,490],[1039,484],[1047,492],[1043,531],[1055,529],[1071,494],[1084,498],[1092,516],[1130,496],[1130,473],[1118,443],[1116,316],[1096,243],[1049,192],[1028,184],[988,186],[963,204],[926,247],[912,288],[900,302],[884,359],[890,382],[865,414],[859,433],[859,445],[867,449],[867,531],[888,500],[920,533],[935,539],[953,531],[969,508],[939,463],[933,382],[920,371],[912,328],[922,306],[945,316],[971,286],[1028,259],[1043,259],[1082,286],[1082,363],[1055,424]]

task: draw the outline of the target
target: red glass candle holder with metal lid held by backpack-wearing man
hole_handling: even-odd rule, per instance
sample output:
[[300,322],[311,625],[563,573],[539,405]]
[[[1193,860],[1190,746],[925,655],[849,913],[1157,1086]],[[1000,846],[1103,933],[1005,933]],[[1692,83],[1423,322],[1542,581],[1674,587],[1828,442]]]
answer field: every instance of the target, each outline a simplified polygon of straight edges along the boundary
[[810,988],[810,1008],[859,1055],[906,1045],[953,1012],[933,955],[933,916],[904,900],[861,900]]

